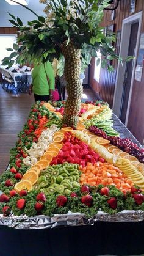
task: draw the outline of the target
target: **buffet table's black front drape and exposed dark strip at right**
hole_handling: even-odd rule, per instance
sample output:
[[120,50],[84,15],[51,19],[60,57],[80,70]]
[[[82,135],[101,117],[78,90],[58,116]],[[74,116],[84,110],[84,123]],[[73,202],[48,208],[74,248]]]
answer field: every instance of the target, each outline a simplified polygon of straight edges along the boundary
[[[121,137],[131,137],[113,114],[114,128]],[[140,147],[142,147],[139,144]],[[96,256],[143,254],[144,221],[103,222],[71,226],[57,224],[53,229],[12,229],[1,225],[1,256]]]

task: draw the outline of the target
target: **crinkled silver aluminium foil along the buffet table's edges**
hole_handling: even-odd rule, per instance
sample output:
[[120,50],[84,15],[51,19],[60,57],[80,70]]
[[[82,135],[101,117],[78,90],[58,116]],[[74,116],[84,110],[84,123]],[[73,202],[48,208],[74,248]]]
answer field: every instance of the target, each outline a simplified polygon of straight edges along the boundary
[[[113,128],[120,133],[120,137],[129,137],[132,142],[142,147],[142,145],[135,139],[132,133],[123,125],[118,117],[113,114]],[[8,166],[9,167],[9,166]],[[7,168],[8,168],[7,167]],[[0,191],[1,192],[1,191]],[[51,229],[59,226],[79,226],[79,225],[94,225],[96,221],[107,222],[139,222],[144,221],[144,211],[121,211],[117,214],[107,214],[102,211],[98,211],[95,216],[90,219],[85,218],[84,214],[68,212],[65,215],[54,215],[50,218],[48,216],[35,216],[27,217],[26,215],[14,216],[11,214],[8,217],[0,214],[0,225],[7,225],[15,229]]]

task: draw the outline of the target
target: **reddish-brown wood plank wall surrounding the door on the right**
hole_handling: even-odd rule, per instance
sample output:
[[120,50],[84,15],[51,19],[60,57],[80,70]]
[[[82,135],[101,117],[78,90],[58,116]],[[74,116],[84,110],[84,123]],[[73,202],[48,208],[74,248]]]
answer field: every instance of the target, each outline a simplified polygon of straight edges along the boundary
[[[102,26],[107,27],[112,24],[115,24],[115,32],[121,30],[122,21],[124,18],[130,16],[129,14],[129,5],[130,0],[121,0],[119,6],[116,10],[116,18],[114,21],[110,21],[111,11],[104,10],[104,19]],[[135,13],[142,11],[144,12],[144,0],[136,1]],[[144,32],[144,15],[142,20],[142,30]],[[107,72],[101,68],[101,74],[99,83],[93,78],[94,69],[95,69],[95,59],[92,59],[90,66],[90,86],[94,92],[99,93],[99,96],[110,104],[112,108],[113,104],[113,95],[115,90],[115,78],[117,75],[117,62],[113,61],[113,67],[115,71],[113,73]],[[143,143],[144,139],[144,111],[143,111],[143,102],[144,102],[144,71],[142,75],[142,81],[138,82],[134,80],[133,90],[132,90],[132,100],[131,108],[129,112],[128,128],[134,134],[137,139]]]

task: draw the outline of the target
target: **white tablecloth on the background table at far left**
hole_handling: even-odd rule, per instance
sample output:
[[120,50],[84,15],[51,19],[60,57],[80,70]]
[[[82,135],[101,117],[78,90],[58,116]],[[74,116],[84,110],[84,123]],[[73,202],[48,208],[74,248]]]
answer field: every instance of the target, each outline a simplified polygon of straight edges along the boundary
[[27,82],[29,82],[29,84],[32,84],[32,72],[23,72],[23,71],[18,71],[18,72],[12,72],[14,68],[10,68],[10,69],[5,69],[3,67],[0,66],[0,73],[2,73],[3,75],[7,76],[7,78],[13,78],[13,81],[15,82],[15,87],[17,87],[17,82],[15,80],[16,77],[18,76],[27,76]]

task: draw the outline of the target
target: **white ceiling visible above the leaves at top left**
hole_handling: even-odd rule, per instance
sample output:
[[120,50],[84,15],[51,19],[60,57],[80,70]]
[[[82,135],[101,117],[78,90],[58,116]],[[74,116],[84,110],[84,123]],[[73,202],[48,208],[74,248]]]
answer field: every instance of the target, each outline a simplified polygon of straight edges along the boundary
[[[26,5],[26,6],[32,10],[38,10],[38,11],[45,9],[45,4],[40,4],[39,0],[29,0],[29,5]],[[20,5],[10,5],[5,0],[0,0],[0,10],[1,11],[7,11],[7,12],[12,13],[15,10],[22,10],[22,9],[23,9],[23,7]],[[27,10],[27,12],[28,12],[28,10]]]

